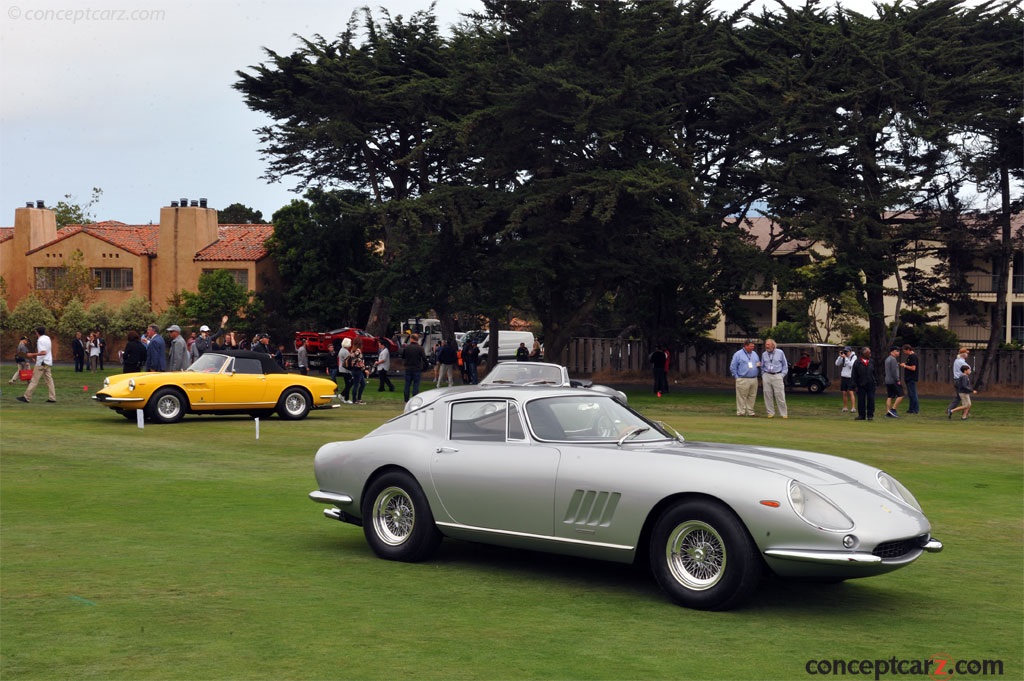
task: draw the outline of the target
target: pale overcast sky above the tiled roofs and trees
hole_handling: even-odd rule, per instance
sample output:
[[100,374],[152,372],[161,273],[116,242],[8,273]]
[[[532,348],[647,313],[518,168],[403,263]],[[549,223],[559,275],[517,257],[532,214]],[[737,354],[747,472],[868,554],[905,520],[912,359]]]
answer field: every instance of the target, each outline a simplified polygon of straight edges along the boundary
[[[234,72],[263,61],[263,47],[294,51],[295,35],[336,36],[368,4],[409,16],[429,0],[4,0],[0,225],[28,201],[85,204],[94,186],[97,220],[157,222],[179,198],[269,219],[298,195],[260,179],[253,129],[266,119],[230,87]],[[873,14],[869,0],[840,4]],[[479,7],[436,0],[438,24]]]

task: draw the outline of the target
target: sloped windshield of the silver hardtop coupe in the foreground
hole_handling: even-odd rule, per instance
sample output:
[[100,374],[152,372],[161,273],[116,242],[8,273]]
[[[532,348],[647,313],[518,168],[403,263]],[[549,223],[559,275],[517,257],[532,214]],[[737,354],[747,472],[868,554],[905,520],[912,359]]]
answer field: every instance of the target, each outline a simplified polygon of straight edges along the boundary
[[657,424],[605,395],[563,395],[526,402],[534,436],[555,442],[642,443],[672,439]]

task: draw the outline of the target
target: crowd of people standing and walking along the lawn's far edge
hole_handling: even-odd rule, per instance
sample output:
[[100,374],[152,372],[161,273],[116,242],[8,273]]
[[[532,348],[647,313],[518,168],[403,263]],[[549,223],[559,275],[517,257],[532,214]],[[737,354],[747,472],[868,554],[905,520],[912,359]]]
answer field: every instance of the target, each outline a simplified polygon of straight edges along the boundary
[[[126,336],[125,348],[121,351],[121,364],[125,373],[131,372],[164,372],[184,371],[191,363],[211,350],[225,348],[249,349],[265,352],[271,355],[283,369],[285,363],[285,346],[272,345],[267,334],[256,334],[252,341],[236,338],[233,332],[226,331],[227,316],[221,320],[221,328],[213,332],[209,326],[203,325],[187,339],[182,337],[181,328],[177,325],[167,327],[168,340],[165,340],[156,324],[151,324],[144,335],[129,331]],[[8,383],[13,384],[23,378],[32,368],[32,377],[25,394],[17,399],[30,402],[39,383],[47,387],[48,402],[56,401],[53,385],[52,341],[44,327],[36,329],[36,349],[31,350],[29,339],[22,336],[14,354],[17,370]],[[305,343],[299,339],[295,343],[297,366],[299,373],[305,375],[309,370],[308,352]],[[101,371],[103,369],[103,350],[105,342],[99,332],[91,332],[87,336],[76,333],[72,340],[72,355],[75,371]],[[954,396],[946,408],[946,417],[952,419],[959,413],[962,420],[970,418],[971,396],[977,393],[972,383],[972,369],[968,364],[970,350],[959,348],[952,366],[952,382]],[[442,387],[455,385],[456,368],[462,378],[462,383],[472,385],[477,383],[477,367],[480,361],[480,350],[472,339],[467,339],[462,347],[454,338],[446,342],[438,342],[433,348],[431,358],[428,358],[425,348],[420,345],[419,336],[412,334],[400,347],[397,358],[402,360],[404,368],[406,401],[419,393],[422,376],[431,365],[434,367],[434,384]],[[516,352],[516,359],[540,360],[541,345],[535,342],[532,349],[527,349],[524,343]],[[34,367],[30,359],[35,360]],[[338,382],[342,401],[345,403],[364,405],[364,392],[368,380],[376,376],[379,381],[378,392],[394,391],[390,380],[391,352],[387,344],[382,343],[374,360],[368,359],[362,350],[362,339],[343,339],[337,352],[337,363],[330,370],[331,378]],[[432,359],[432,361],[431,361]],[[660,397],[669,393],[668,373],[671,352],[664,345],[656,346],[649,356],[649,363],[654,379],[654,393]],[[876,394],[878,391],[878,375],[874,359],[869,347],[861,348],[858,354],[850,346],[844,347],[836,358],[836,367],[840,372],[840,394],[842,397],[842,413],[856,414],[857,421],[872,421],[876,413]],[[735,382],[736,416],[757,416],[756,402],[758,385],[762,388],[765,415],[769,419],[776,416],[790,418],[786,403],[786,376],[791,372],[807,372],[811,368],[810,355],[802,353],[800,360],[790,365],[785,352],[771,338],[764,342],[764,349],[757,350],[757,341],[748,340],[735,351],[729,363],[729,374]],[[885,386],[885,417],[900,418],[900,405],[907,400],[905,414],[920,414],[921,405],[918,397],[918,380],[920,365],[914,349],[909,344],[893,346],[883,363],[883,384]]]

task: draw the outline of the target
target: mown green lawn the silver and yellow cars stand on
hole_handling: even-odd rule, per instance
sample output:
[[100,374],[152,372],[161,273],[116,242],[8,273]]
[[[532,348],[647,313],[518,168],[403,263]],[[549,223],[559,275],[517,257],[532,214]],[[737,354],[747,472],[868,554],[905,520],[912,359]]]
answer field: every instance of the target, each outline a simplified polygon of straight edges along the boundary
[[1020,401],[982,395],[962,423],[926,399],[921,416],[863,423],[836,392],[792,395],[787,421],[737,418],[727,392],[631,393],[691,440],[884,467],[946,546],[870,580],[768,581],[713,613],[627,565],[454,541],[426,563],[373,557],[306,495],[316,448],[399,413],[376,382],[367,406],[264,420],[257,440],[247,418],[139,429],[89,399],[94,375],[56,381],[56,405],[6,383],[0,396],[3,681],[815,679],[811,659],[933,655],[1024,678]]

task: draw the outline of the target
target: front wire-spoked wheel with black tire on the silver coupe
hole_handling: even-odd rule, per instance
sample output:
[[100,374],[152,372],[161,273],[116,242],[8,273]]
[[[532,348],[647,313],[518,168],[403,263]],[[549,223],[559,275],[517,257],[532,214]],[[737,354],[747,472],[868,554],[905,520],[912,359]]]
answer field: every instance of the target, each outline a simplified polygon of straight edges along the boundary
[[761,581],[758,548],[736,515],[714,501],[680,502],[666,510],[650,539],[658,586],[684,607],[727,610]]

